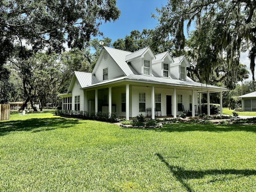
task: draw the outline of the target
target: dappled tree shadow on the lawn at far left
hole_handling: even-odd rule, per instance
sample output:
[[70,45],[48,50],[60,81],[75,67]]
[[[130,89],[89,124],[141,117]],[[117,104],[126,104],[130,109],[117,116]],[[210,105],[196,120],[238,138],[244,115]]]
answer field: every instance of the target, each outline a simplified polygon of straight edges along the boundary
[[27,120],[16,120],[0,122],[0,136],[13,131],[41,132],[57,128],[68,128],[78,124],[77,119],[66,118],[32,118]]

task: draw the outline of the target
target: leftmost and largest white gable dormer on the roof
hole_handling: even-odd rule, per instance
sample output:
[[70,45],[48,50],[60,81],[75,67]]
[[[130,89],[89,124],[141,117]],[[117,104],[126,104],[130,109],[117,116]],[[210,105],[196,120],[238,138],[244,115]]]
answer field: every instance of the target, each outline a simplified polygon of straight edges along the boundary
[[150,47],[143,48],[126,56],[125,60],[138,74],[152,76],[152,60],[156,57]]

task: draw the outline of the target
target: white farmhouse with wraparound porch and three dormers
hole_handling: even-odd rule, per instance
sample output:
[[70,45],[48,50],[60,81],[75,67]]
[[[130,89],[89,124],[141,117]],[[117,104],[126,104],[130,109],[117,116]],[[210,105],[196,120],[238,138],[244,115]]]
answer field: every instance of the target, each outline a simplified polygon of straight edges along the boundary
[[118,112],[127,120],[138,114],[176,117],[183,110],[195,116],[201,93],[207,93],[210,115],[210,93],[218,92],[222,115],[228,89],[194,82],[186,76],[188,66],[186,56],[154,55],[150,47],[133,53],[103,47],[92,73],[74,72],[68,92],[59,95],[62,109]]

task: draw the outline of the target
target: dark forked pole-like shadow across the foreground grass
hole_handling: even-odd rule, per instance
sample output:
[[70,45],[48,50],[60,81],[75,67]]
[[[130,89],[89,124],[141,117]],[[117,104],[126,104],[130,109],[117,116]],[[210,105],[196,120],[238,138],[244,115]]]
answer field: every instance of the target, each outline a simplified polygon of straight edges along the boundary
[[236,169],[211,169],[211,170],[204,170],[204,171],[196,171],[196,170],[185,170],[182,167],[179,166],[172,166],[170,165],[164,157],[157,153],[156,156],[169,168],[169,170],[172,172],[173,176],[186,188],[188,192],[192,192],[192,188],[189,184],[186,183],[187,179],[200,179],[203,178],[206,175],[237,175],[237,176],[250,176],[250,175],[256,175],[256,170],[236,170]]

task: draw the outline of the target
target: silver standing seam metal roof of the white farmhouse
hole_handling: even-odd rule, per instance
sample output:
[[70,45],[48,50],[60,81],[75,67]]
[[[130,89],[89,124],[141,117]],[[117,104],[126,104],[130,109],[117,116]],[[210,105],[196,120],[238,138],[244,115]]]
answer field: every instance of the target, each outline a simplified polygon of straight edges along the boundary
[[[222,90],[222,91],[228,90],[226,88],[222,88],[222,87],[218,87],[218,86],[212,86],[212,85],[208,85],[208,84],[194,82],[193,80],[191,80],[188,77],[187,77],[186,81],[178,80],[174,76],[171,76],[171,79],[161,78],[161,77],[157,76],[157,74],[154,71],[152,71],[154,76],[143,76],[143,75],[137,74],[136,70],[134,70],[126,62],[126,59],[127,58],[135,58],[138,55],[142,55],[147,48],[148,47],[146,47],[138,52],[131,53],[128,51],[104,47],[104,49],[108,52],[108,54],[113,58],[113,60],[118,64],[118,66],[120,66],[120,68],[124,71],[124,73],[126,74],[125,76],[118,77],[118,78],[111,79],[111,80],[106,80],[103,82],[98,82],[96,77],[93,76],[91,73],[76,71],[74,73],[74,76],[76,76],[82,89],[92,88],[93,86],[100,86],[103,84],[114,83],[114,82],[118,82],[118,81],[132,80],[132,81],[138,81],[138,82],[140,82],[140,81],[146,82],[149,84],[166,84],[166,85],[170,85],[170,86],[194,87],[194,88],[196,87],[196,88],[198,88],[198,90],[200,90],[201,88],[210,88],[210,89]],[[157,57],[155,57],[155,59],[159,59],[159,58],[161,59],[164,57],[165,54],[167,54],[167,52],[158,54]],[[174,63],[181,62],[183,59],[184,59],[184,56],[180,56],[178,58],[173,58]],[[72,78],[72,82],[74,81],[74,76]],[[72,82],[71,82],[71,84],[72,84]],[[240,96],[240,97],[242,97],[242,96]]]

